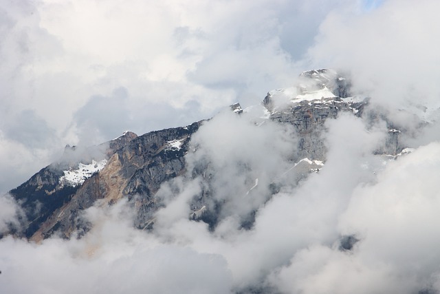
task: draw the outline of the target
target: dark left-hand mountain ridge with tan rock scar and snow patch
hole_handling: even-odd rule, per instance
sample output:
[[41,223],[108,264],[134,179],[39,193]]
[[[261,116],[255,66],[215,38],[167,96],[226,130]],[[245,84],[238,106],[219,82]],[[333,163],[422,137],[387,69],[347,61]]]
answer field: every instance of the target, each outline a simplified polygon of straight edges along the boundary
[[[21,220],[25,230],[17,235],[39,241],[55,232],[65,238],[74,231],[82,234],[88,227],[78,217],[96,200],[111,204],[137,195],[140,214],[145,207],[155,209],[154,193],[162,182],[184,170],[190,136],[198,127],[199,123],[193,123],[139,137],[126,132],[87,149],[67,146],[61,160],[10,191],[25,211],[25,219]],[[93,174],[84,173],[85,164],[94,160],[107,160],[107,164]],[[67,172],[83,178],[77,177],[77,184],[66,183],[63,176]]]

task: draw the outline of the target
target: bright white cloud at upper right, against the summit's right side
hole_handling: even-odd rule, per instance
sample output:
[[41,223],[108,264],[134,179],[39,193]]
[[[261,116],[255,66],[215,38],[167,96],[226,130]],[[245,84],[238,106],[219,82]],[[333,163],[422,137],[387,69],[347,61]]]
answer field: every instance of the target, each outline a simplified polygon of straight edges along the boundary
[[335,10],[320,25],[309,57],[315,65],[351,72],[355,89],[392,109],[391,116],[396,109],[416,111],[420,105],[436,110],[438,9],[437,1],[388,0],[360,14]]

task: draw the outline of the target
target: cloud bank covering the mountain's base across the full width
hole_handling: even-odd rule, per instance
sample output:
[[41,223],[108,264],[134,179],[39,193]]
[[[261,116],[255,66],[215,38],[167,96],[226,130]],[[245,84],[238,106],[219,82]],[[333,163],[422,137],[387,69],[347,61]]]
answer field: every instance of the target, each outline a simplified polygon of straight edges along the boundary
[[[255,202],[252,197],[258,198],[260,192],[243,193],[249,183],[232,171],[238,167],[234,156],[243,156],[246,162],[246,146],[254,149],[253,154],[265,151],[263,141],[254,142],[261,140],[262,126],[252,127],[246,116],[232,115],[232,119],[223,114],[210,120],[193,139],[199,149],[208,150],[204,156],[212,154],[209,159],[214,160],[212,165],[216,167],[213,178],[232,184],[230,190],[214,185],[215,191],[225,189],[226,198],[222,199],[232,201],[235,197],[238,199],[234,201],[239,201],[232,206],[236,210],[228,209],[213,231],[208,224],[188,218],[190,199],[199,191],[199,182],[176,178],[173,185],[180,185],[180,193],[170,194],[168,183],[162,187],[159,193],[168,195],[167,205],[157,212],[151,231],[133,229],[133,207],[122,200],[110,207],[97,203],[87,209],[83,218],[93,224],[93,229],[80,239],[50,238],[34,244],[3,238],[1,292],[440,290],[440,238],[436,234],[440,224],[440,182],[436,180],[440,143],[430,143],[397,160],[388,160],[373,155],[386,130],[369,127],[367,132],[364,120],[342,114],[327,122],[329,152],[325,167],[299,185],[287,180],[270,200]],[[246,131],[245,140],[231,135],[224,145],[214,144],[207,136],[211,133],[203,132],[203,128],[218,129],[217,123],[225,117],[235,126],[234,130]],[[269,163],[265,158],[274,160],[276,165],[276,158],[279,162],[285,158],[282,150],[295,146],[294,140],[285,140],[280,134],[284,133],[274,132],[273,136],[281,138],[285,147],[281,146],[275,157],[248,157],[252,173],[273,174],[270,165],[265,170]],[[256,144],[247,145],[252,142]],[[228,150],[243,153],[232,152],[228,157]],[[218,152],[226,154],[214,157]],[[232,195],[239,187],[242,191]],[[261,195],[264,193],[261,190]],[[251,229],[240,226],[241,211],[245,208],[257,209]],[[351,250],[340,246],[347,235],[358,240]]]

